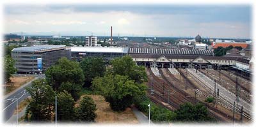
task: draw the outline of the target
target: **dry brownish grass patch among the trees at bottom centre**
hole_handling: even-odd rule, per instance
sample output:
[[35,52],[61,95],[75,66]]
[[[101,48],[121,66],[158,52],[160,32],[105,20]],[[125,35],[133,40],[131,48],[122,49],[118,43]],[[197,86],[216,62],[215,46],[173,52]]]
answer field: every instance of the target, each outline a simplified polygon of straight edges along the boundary
[[[81,96],[90,96],[93,98],[94,103],[97,106],[95,119],[96,123],[125,123],[125,124],[137,124],[138,119],[133,114],[131,108],[126,108],[124,112],[115,112],[109,107],[109,103],[104,100],[103,96],[84,94]],[[77,101],[75,107],[79,106],[81,98]]]

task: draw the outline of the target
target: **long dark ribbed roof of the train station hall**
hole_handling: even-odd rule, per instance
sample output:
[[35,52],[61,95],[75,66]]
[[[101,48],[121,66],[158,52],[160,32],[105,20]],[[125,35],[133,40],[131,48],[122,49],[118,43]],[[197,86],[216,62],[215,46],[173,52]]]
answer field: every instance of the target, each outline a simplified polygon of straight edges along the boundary
[[211,50],[195,50],[195,49],[130,48],[129,54],[171,54],[171,55],[212,56],[213,52]]

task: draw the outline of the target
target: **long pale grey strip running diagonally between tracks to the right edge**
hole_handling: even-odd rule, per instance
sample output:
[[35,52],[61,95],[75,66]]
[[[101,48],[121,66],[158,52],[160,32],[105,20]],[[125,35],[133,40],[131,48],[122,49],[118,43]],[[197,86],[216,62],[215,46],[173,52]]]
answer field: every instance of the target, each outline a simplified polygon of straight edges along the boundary
[[[205,76],[200,71],[197,71],[196,73],[195,69],[188,69],[188,71],[193,75],[195,75],[195,77],[198,78],[199,80],[204,81],[205,85],[207,85],[211,89],[214,89],[214,81],[212,81],[209,77]],[[225,98],[225,100],[229,101],[230,103],[234,103],[234,101],[236,101],[236,94],[231,93],[224,87],[220,86],[220,84],[216,83],[216,89],[220,90],[220,96]],[[250,110],[252,109],[250,103],[248,103],[247,101],[244,101],[242,98],[239,98],[239,105],[243,105],[243,107],[247,112],[250,112]]]

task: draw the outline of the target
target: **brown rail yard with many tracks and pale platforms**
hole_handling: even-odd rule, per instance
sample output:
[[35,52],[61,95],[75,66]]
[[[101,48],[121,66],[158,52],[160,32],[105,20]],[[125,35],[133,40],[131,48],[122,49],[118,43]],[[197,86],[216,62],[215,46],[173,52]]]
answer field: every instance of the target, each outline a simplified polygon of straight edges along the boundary
[[[170,110],[186,102],[203,103],[222,122],[252,120],[252,82],[227,70],[147,68],[148,96]],[[205,100],[214,98],[213,103]]]

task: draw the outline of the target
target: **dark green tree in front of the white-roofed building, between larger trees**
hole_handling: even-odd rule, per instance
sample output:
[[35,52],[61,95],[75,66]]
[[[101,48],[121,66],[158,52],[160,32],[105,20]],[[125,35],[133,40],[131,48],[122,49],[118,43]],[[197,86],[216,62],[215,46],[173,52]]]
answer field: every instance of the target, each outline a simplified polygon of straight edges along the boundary
[[80,62],[85,82],[91,84],[95,77],[102,77],[106,71],[106,65],[102,57],[86,57]]

